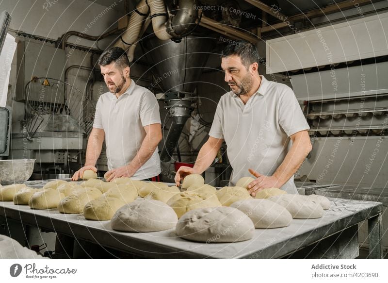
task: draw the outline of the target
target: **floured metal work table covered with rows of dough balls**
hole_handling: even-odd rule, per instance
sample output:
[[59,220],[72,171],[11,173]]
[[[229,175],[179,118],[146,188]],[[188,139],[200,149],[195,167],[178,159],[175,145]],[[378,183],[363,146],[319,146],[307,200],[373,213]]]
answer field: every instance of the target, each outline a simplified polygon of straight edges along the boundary
[[[102,246],[152,258],[284,258],[308,247],[330,247],[332,239],[346,231],[345,241],[357,236],[357,223],[368,219],[370,258],[382,258],[382,204],[371,201],[330,199],[332,206],[318,219],[293,219],[289,227],[256,229],[251,240],[237,243],[195,243],[176,236],[174,229],[153,233],[122,233],[112,230],[110,221],[86,220],[82,215],[65,215],[56,209],[32,210],[13,202],[0,201],[0,216],[67,234]],[[348,246],[346,243],[344,246]],[[333,253],[340,258],[340,252]],[[358,246],[357,246],[358,254]],[[357,255],[352,254],[356,257]],[[305,258],[305,256],[303,256]],[[325,258],[319,256],[319,258]]]

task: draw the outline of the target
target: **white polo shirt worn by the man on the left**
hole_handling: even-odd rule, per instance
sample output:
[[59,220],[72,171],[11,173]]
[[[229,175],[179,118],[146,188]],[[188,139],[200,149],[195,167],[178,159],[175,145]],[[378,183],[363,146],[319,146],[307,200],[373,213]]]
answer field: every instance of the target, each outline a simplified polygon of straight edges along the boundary
[[[161,124],[159,104],[151,91],[136,85],[133,80],[118,99],[107,92],[97,101],[94,128],[105,132],[108,168],[128,165],[137,154],[146,136],[143,127]],[[161,172],[158,148],[151,158],[132,176],[135,180],[148,179]]]

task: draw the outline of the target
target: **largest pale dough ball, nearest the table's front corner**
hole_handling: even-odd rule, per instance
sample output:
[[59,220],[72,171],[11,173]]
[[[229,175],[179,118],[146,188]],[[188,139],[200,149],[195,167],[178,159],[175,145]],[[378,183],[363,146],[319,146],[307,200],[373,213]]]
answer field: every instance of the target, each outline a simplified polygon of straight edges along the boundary
[[178,220],[175,232],[194,242],[229,243],[253,237],[255,226],[242,211],[221,206],[189,211]]

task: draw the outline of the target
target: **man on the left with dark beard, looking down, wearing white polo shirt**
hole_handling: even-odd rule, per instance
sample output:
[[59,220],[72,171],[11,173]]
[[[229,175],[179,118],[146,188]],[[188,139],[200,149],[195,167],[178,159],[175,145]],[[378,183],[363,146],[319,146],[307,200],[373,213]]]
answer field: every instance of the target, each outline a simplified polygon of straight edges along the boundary
[[98,59],[109,92],[97,101],[93,130],[86,149],[86,162],[72,180],[95,167],[105,138],[108,158],[107,181],[119,177],[155,179],[161,172],[158,143],[162,127],[158,101],[148,89],[129,78],[126,52],[113,47]]

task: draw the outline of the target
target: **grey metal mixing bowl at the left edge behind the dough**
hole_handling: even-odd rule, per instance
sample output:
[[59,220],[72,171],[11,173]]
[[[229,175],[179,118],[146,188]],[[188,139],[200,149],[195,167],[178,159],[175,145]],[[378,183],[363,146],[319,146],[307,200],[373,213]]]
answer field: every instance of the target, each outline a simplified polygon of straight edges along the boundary
[[18,184],[27,181],[33,171],[35,159],[0,160],[0,183]]

